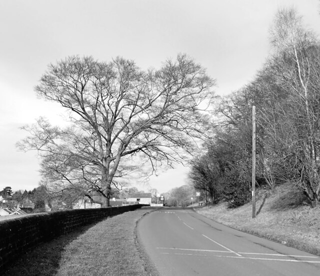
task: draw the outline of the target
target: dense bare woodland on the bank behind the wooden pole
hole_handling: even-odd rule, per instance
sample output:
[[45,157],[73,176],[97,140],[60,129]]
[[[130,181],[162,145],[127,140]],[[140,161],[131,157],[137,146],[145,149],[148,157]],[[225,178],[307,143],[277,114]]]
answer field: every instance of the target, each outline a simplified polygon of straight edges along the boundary
[[190,178],[196,188],[212,198],[217,192],[230,207],[250,199],[255,105],[255,184],[273,189],[290,183],[315,206],[320,199],[320,44],[293,9],[278,11],[270,43],[272,53],[256,78],[220,99],[215,137],[207,143],[208,153],[194,160]]

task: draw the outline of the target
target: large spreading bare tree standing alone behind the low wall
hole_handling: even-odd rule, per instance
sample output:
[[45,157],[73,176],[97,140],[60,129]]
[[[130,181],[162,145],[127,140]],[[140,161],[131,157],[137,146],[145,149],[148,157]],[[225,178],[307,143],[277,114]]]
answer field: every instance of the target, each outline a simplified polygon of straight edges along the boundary
[[98,191],[108,206],[111,184],[135,171],[134,160],[183,162],[208,133],[203,110],[214,80],[186,55],[159,70],[143,71],[131,60],[98,62],[68,57],[50,64],[35,90],[69,114],[65,128],[44,119],[24,127],[19,147],[37,150],[43,181],[55,190]]

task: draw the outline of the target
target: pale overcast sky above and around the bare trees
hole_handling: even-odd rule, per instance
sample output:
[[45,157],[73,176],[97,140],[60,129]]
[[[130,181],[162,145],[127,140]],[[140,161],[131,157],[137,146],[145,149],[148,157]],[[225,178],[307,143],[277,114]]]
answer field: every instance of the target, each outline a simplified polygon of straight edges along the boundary
[[[217,80],[217,94],[253,79],[269,53],[268,29],[279,7],[294,6],[320,33],[318,0],[0,0],[0,189],[38,185],[35,153],[18,152],[18,128],[62,110],[36,98],[49,63],[69,55],[109,61],[122,56],[158,68],[186,53]],[[159,172],[159,192],[186,183],[187,168]],[[143,188],[143,187],[142,187]]]

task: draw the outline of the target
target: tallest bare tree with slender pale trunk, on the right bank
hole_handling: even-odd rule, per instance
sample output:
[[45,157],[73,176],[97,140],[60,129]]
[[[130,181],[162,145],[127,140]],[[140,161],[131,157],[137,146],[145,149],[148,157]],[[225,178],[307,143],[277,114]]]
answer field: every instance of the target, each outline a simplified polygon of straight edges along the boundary
[[[289,126],[273,119],[278,124],[272,124],[273,133],[286,138],[283,160],[291,168],[292,179],[313,206],[319,201],[320,191],[319,46],[314,35],[303,28],[294,9],[278,11],[271,34],[275,49],[272,71],[286,94],[285,100],[280,102],[282,106],[277,106],[277,117],[285,118],[284,123]],[[279,135],[283,127],[286,128],[285,136]]]

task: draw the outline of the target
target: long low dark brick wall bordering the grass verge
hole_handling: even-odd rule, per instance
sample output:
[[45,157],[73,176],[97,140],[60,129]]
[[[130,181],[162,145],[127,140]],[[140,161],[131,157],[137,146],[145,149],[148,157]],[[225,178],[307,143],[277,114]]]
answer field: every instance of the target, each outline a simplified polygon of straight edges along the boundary
[[143,205],[73,209],[30,214],[0,221],[0,267],[42,241],[66,234],[79,226],[105,217],[132,211]]

